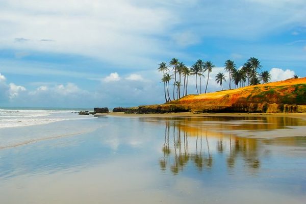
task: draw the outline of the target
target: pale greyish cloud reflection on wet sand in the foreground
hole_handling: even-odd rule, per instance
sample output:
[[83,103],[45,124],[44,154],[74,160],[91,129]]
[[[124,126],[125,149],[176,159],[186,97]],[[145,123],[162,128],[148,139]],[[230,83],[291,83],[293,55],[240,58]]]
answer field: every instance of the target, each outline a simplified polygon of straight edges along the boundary
[[[160,175],[143,166],[146,157],[127,158],[74,173],[49,176],[18,176],[0,187],[3,203],[303,203],[306,196],[293,197],[268,190],[262,184],[231,185],[216,181],[209,185],[188,176]],[[125,165],[124,165],[125,164]],[[142,164],[142,165],[141,165]],[[122,174],[122,171],[125,172]],[[277,186],[274,186],[277,189]],[[12,190],[14,189],[14,190]],[[6,196],[3,196],[6,195]],[[260,196],[258,196],[260,195]]]

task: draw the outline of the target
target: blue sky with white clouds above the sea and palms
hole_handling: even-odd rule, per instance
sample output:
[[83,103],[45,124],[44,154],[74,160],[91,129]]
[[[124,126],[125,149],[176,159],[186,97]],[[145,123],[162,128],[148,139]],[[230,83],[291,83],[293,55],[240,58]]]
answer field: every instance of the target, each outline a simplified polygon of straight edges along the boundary
[[[305,0],[0,0],[0,106],[164,103],[159,63],[261,61],[272,81],[306,75]],[[206,82],[207,77],[204,79]],[[226,87],[226,84],[224,84]],[[189,93],[196,93],[193,77]]]

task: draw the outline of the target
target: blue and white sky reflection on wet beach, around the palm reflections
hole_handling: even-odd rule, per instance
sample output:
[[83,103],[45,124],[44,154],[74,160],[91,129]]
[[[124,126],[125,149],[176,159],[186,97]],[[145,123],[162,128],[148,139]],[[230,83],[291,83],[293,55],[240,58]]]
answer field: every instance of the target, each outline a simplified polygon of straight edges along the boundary
[[[55,194],[63,202],[75,203],[95,199],[118,203],[124,200],[126,203],[156,203],[160,200],[183,203],[191,199],[194,203],[203,200],[210,203],[242,203],[250,198],[253,201],[267,199],[271,203],[302,203],[305,198],[305,137],[252,139],[256,148],[237,151],[234,167],[228,168],[226,162],[230,149],[235,148],[235,138],[231,138],[233,146],[230,148],[230,138],[222,137],[224,146],[221,152],[217,146],[220,137],[208,135],[206,141],[206,136],[202,136],[202,157],[209,155],[208,142],[212,166],[203,165],[199,170],[190,159],[183,170],[172,174],[170,165],[175,157],[173,126],[170,125],[169,166],[162,171],[159,160],[163,159],[164,123],[119,117],[90,121],[92,128],[96,127],[92,132],[1,149],[0,200],[18,202],[26,193],[34,197],[36,193],[41,193],[45,199]],[[44,130],[52,133],[48,128],[53,127],[52,124],[44,125]],[[75,129],[78,129],[77,126]],[[183,132],[181,136],[183,140]],[[177,137],[176,129],[176,142]],[[244,139],[236,139],[244,144]],[[196,140],[196,137],[188,137],[190,155],[196,154]],[[199,148],[199,138],[197,142]],[[248,165],[248,159],[253,155],[260,161],[259,168]],[[46,185],[46,192],[49,193],[42,192],[37,187],[39,185]],[[218,194],[220,192],[222,195]],[[19,194],[20,200],[3,196],[10,193]],[[276,197],[278,194],[281,196]],[[56,200],[49,201],[57,203]]]

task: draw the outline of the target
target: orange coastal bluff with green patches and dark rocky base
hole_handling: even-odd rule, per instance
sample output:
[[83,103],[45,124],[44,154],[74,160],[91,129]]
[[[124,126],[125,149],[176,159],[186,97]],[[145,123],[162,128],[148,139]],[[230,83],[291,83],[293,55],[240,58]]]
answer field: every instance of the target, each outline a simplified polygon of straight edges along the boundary
[[173,112],[304,113],[306,78],[187,95],[166,104],[139,106],[137,109],[138,114]]

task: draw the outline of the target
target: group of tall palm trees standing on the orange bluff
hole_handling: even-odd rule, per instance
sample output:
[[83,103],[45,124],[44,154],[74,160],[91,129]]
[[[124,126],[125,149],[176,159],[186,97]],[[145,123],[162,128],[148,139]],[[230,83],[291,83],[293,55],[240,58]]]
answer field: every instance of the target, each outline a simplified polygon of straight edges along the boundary
[[[173,58],[169,62],[169,65],[167,65],[166,62],[161,62],[159,64],[158,70],[163,72],[162,82],[164,83],[164,95],[166,102],[171,101],[169,84],[172,79],[174,80],[172,99],[179,99],[187,95],[188,77],[190,75],[195,75],[196,92],[197,94],[201,94],[202,78],[204,78],[204,74],[207,73],[207,82],[205,87],[205,93],[207,93],[210,73],[214,67],[215,65],[213,65],[211,61],[204,62],[202,60],[197,60],[190,68],[176,58]],[[248,85],[257,85],[261,82],[268,83],[271,80],[271,75],[268,71],[259,73],[258,70],[261,70],[261,67],[261,62],[257,58],[253,57],[248,59],[240,69],[237,68],[234,61],[227,60],[225,62],[224,69],[229,73],[228,89],[232,89],[231,82],[235,84],[235,88]],[[199,88],[198,78],[200,83]],[[224,73],[219,72],[216,75],[216,82],[221,86],[221,89],[223,90],[223,82],[226,82]]]

